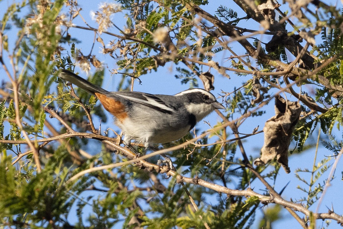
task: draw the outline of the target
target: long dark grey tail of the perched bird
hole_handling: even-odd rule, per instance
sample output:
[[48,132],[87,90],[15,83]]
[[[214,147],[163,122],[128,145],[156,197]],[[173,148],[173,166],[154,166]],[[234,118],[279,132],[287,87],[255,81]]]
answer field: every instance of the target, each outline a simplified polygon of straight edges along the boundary
[[100,93],[100,94],[106,94],[108,91],[105,89],[102,89],[98,87],[97,85],[94,85],[93,83],[81,78],[80,76],[76,75],[75,73],[62,69],[62,71],[58,74],[58,77],[71,82],[72,84],[75,84],[79,88],[82,88],[83,90],[95,94],[95,93]]

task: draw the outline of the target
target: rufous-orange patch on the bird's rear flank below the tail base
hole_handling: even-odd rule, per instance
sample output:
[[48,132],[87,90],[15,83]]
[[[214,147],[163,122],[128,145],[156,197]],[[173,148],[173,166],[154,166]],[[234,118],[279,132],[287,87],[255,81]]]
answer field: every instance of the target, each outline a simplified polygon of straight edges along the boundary
[[113,114],[118,121],[123,122],[127,118],[127,113],[125,112],[125,106],[118,100],[107,97],[104,94],[95,93],[95,96],[99,99],[104,108],[111,114]]

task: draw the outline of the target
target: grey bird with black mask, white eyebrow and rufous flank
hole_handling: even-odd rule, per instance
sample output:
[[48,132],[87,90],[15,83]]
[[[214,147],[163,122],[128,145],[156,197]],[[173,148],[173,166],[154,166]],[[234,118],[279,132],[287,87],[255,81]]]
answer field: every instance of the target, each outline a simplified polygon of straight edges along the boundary
[[62,69],[58,77],[96,96],[115,117],[127,146],[131,145],[131,140],[144,147],[178,140],[215,109],[225,109],[212,93],[200,88],[175,95],[109,92],[66,69]]

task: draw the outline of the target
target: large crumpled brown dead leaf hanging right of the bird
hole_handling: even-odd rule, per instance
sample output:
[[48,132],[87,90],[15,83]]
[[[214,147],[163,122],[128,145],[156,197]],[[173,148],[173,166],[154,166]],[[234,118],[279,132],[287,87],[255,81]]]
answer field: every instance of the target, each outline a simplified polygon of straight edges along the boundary
[[261,157],[254,161],[255,165],[265,165],[276,156],[276,161],[282,165],[285,172],[291,172],[288,167],[288,147],[300,113],[301,107],[298,102],[286,102],[280,95],[275,97],[275,116],[265,123],[264,145]]

